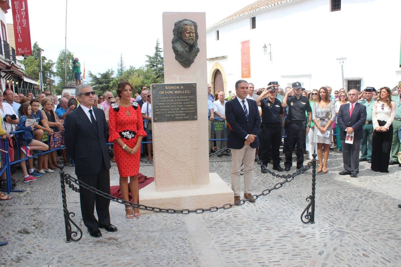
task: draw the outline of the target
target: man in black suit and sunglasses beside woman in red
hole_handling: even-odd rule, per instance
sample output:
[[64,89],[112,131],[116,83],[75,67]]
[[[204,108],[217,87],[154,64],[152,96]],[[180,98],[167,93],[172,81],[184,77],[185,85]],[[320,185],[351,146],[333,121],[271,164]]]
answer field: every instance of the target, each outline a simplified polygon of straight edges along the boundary
[[[67,115],[64,140],[69,155],[75,159],[75,174],[79,181],[107,194],[110,193],[110,158],[107,143],[107,123],[103,110],[92,106],[95,91],[87,84],[80,84],[75,96],[78,108]],[[82,219],[93,237],[101,237],[98,227],[109,232],[117,231],[110,223],[110,200],[88,189],[79,187]],[[96,212],[99,221],[93,215]]]

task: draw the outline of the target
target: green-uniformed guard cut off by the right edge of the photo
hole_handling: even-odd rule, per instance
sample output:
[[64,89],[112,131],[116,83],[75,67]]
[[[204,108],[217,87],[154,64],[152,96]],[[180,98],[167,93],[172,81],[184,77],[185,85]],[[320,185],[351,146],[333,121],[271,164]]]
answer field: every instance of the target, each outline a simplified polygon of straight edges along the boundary
[[395,101],[395,117],[393,120],[393,143],[391,144],[391,161],[389,165],[400,164],[401,162],[398,161],[397,154],[401,151],[401,145],[398,138],[398,131],[401,128],[401,82],[398,84],[397,88],[398,95],[391,96],[391,99]]

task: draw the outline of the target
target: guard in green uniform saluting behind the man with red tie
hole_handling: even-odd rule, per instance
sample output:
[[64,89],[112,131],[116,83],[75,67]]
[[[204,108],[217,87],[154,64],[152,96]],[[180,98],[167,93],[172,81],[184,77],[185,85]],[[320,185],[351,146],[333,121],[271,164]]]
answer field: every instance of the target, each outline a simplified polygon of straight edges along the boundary
[[373,104],[375,100],[373,99],[373,92],[376,92],[376,89],[373,87],[367,87],[364,92],[365,99],[359,100],[358,103],[366,106],[366,122],[362,127],[363,131],[363,139],[361,142],[361,152],[362,155],[359,161],[368,161],[371,163],[372,158],[372,139],[371,137],[373,132],[373,123],[372,123],[372,112],[373,112]]

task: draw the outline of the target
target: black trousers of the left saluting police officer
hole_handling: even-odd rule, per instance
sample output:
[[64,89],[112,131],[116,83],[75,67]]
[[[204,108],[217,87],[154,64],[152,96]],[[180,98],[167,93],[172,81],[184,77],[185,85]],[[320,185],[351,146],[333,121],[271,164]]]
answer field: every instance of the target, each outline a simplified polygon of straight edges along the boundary
[[262,133],[261,161],[267,166],[269,159],[273,159],[273,166],[277,167],[280,164],[281,124],[262,123]]

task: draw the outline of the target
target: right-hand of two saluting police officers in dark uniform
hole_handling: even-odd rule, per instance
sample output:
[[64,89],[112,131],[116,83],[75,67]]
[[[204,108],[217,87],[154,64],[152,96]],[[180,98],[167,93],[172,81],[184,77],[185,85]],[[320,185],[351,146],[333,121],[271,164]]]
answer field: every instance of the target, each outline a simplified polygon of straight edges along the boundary
[[[305,136],[310,130],[312,109],[310,108],[308,98],[301,95],[301,88],[302,86],[300,82],[294,82],[292,84],[292,90],[286,92],[282,102],[283,108],[288,106],[288,126],[286,126],[287,136],[285,143],[286,162],[284,163],[285,171],[290,171],[292,166],[292,147],[295,140],[297,142],[297,169],[304,166],[304,143]],[[293,92],[292,96],[288,96],[290,92]],[[308,124],[306,124],[305,120],[305,111],[308,112]]]

